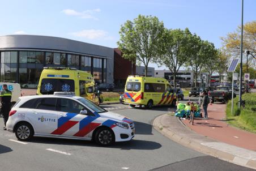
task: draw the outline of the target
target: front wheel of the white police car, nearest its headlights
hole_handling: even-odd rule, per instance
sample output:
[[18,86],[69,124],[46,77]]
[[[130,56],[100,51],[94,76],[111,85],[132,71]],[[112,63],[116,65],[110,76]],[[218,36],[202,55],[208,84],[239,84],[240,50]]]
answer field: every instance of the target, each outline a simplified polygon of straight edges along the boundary
[[105,127],[99,129],[95,134],[95,141],[101,146],[110,146],[114,143],[113,131]]

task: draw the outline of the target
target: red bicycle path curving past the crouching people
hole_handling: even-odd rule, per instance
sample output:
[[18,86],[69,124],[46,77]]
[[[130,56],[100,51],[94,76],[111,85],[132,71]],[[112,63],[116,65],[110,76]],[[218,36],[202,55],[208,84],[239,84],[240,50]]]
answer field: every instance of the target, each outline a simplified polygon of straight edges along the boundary
[[[229,126],[225,121],[225,109],[226,105],[224,104],[209,104],[208,119],[195,118],[194,125],[189,123],[189,119],[181,119],[181,121],[198,134],[256,151],[256,134]],[[203,112],[202,114],[204,116]]]

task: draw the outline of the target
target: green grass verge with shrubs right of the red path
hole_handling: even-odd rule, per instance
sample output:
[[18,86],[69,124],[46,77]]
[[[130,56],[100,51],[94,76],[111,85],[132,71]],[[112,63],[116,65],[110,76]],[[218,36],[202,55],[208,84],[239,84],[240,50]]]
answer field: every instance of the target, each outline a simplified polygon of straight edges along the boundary
[[234,127],[256,133],[256,93],[245,93],[242,95],[242,99],[245,100],[245,109],[241,108],[241,111],[238,109],[238,97],[236,97],[233,115],[231,113],[231,100],[228,102],[227,121]]

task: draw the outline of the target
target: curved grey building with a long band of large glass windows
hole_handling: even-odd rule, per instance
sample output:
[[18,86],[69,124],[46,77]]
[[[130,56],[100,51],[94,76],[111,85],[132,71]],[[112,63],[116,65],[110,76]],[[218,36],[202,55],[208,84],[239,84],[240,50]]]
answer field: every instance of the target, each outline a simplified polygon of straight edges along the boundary
[[50,36],[0,36],[0,81],[37,88],[44,66],[91,72],[97,83],[113,83],[112,48]]

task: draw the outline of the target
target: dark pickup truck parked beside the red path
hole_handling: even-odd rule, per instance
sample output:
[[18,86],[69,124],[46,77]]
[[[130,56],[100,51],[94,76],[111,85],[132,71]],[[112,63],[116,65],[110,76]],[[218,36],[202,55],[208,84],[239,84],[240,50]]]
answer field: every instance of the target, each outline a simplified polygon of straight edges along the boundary
[[[225,104],[228,100],[232,99],[232,89],[229,87],[219,86],[214,91],[209,91],[208,96],[212,102],[222,101]],[[236,97],[236,94],[233,94]]]

